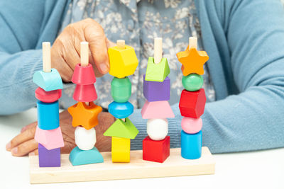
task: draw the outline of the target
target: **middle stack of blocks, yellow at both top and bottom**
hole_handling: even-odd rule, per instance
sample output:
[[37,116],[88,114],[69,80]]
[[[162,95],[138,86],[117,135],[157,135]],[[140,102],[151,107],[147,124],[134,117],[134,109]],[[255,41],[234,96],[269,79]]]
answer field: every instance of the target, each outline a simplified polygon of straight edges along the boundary
[[133,47],[125,45],[124,40],[118,40],[115,47],[110,47],[109,74],[114,76],[111,81],[111,96],[114,102],[109,104],[109,113],[117,120],[104,136],[111,137],[112,162],[130,162],[130,139],[135,139],[138,130],[129,120],[133,113],[133,105],[129,103],[131,97],[131,81],[127,76],[134,74],[138,66]]

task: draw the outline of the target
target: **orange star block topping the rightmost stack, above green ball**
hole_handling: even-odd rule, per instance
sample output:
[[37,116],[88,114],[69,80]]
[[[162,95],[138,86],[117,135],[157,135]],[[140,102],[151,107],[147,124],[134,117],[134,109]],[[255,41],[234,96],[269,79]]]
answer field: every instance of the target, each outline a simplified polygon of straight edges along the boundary
[[195,48],[187,49],[177,53],[178,61],[182,63],[182,74],[187,76],[195,73],[204,74],[203,64],[209,59],[207,52],[197,51]]

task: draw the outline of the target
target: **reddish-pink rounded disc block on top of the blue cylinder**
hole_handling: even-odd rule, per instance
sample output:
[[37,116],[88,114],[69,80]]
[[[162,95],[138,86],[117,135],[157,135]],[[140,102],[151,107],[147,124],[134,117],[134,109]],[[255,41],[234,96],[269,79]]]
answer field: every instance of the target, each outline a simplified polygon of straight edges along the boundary
[[38,101],[42,101],[44,103],[53,103],[55,101],[58,101],[58,99],[61,97],[61,89],[54,90],[54,91],[45,91],[43,88],[36,88],[35,90],[35,98],[38,99]]

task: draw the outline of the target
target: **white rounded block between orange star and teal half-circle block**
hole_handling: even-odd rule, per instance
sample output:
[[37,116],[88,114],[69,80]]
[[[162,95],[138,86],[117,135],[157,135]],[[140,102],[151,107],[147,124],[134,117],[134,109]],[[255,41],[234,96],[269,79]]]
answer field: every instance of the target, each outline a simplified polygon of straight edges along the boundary
[[89,150],[96,144],[96,130],[94,128],[86,130],[84,127],[76,127],[75,143],[82,150]]

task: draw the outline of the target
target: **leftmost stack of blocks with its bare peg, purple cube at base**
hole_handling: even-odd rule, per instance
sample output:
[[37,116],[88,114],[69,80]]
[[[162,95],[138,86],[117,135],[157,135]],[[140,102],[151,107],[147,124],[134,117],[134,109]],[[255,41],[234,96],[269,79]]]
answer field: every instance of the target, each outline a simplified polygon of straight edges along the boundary
[[60,147],[64,147],[59,126],[59,105],[62,80],[56,69],[51,69],[50,42],[43,42],[43,71],[36,71],[33,82],[38,85],[38,126],[35,140],[38,142],[40,167],[60,166]]

